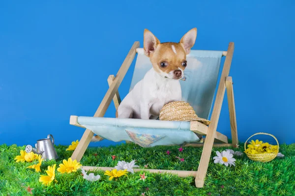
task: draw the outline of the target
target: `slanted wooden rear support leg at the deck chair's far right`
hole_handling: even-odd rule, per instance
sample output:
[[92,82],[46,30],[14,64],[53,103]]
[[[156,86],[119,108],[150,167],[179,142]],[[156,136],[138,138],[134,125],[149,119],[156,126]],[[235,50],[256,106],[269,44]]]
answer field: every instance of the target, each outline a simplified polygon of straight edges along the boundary
[[230,111],[232,140],[233,140],[233,146],[235,146],[235,145],[238,145],[238,139],[237,139],[237,127],[236,127],[236,107],[235,107],[232,77],[227,77],[226,79],[226,91],[227,91],[229,111]]

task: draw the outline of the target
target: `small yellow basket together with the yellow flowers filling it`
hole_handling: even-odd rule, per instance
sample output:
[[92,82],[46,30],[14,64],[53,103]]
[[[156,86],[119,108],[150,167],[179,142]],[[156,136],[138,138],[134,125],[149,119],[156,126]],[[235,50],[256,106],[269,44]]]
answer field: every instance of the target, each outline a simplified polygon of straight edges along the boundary
[[[260,140],[252,140],[250,142],[250,144],[248,145],[248,148],[246,148],[246,143],[247,141],[255,136],[255,135],[268,135],[273,137],[278,145],[271,145],[269,143],[264,143],[263,141]],[[253,161],[260,161],[260,162],[268,162],[273,160],[278,152],[279,152],[279,142],[278,140],[271,134],[267,134],[267,133],[257,133],[252,135],[250,138],[248,138],[248,140],[245,142],[245,153],[247,155],[247,157],[249,157],[249,159],[253,160]]]

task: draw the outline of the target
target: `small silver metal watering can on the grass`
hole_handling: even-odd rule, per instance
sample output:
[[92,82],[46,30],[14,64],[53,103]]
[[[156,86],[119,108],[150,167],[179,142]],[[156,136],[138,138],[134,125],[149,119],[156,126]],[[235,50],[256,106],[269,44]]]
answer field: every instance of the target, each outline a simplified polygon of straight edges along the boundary
[[26,152],[27,153],[33,152],[36,154],[40,154],[42,155],[42,159],[44,161],[57,159],[58,154],[53,144],[54,144],[54,138],[51,134],[49,134],[46,139],[37,140],[37,143],[35,144],[35,148],[33,148],[31,145],[27,145]]

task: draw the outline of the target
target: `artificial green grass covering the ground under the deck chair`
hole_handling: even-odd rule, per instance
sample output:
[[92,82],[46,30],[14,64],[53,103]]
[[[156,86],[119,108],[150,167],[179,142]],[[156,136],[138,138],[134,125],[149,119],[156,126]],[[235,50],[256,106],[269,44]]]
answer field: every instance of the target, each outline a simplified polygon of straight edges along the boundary
[[[39,182],[39,175],[45,174],[47,166],[68,159],[73,151],[66,151],[68,146],[56,146],[58,160],[42,163],[41,172],[26,168],[37,163],[16,163],[14,158],[20,155],[25,146],[5,144],[0,145],[0,196],[30,195],[26,187],[33,188],[34,196],[295,196],[295,144],[280,145],[283,158],[275,158],[268,163],[254,162],[243,153],[236,158],[236,167],[225,167],[214,164],[212,157],[216,150],[213,148],[204,188],[196,188],[193,177],[180,178],[173,174],[149,173],[148,178],[139,180],[140,173],[128,173],[116,180],[109,181],[104,171],[94,174],[101,176],[96,182],[83,179],[81,170],[74,173],[61,174],[56,171],[57,183],[44,186]],[[115,167],[118,161],[131,162],[137,160],[140,168],[197,170],[202,148],[179,146],[157,146],[142,148],[136,144],[120,144],[117,146],[88,148],[81,164],[84,166]],[[167,154],[167,150],[170,154]],[[243,151],[239,146],[234,150]],[[115,160],[112,155],[116,155]],[[181,162],[176,157],[184,158]]]

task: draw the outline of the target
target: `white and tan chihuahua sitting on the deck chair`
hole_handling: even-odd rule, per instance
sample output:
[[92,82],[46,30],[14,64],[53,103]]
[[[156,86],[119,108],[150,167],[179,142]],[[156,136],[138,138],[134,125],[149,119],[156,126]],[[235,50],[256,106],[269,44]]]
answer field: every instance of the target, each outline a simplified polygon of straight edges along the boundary
[[[179,80],[184,77],[186,55],[197,38],[197,28],[183,35],[179,43],[160,41],[148,30],[144,31],[144,53],[152,68],[120,103],[117,118],[157,119],[164,105],[181,101]],[[96,137],[92,141],[96,141]]]

